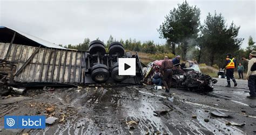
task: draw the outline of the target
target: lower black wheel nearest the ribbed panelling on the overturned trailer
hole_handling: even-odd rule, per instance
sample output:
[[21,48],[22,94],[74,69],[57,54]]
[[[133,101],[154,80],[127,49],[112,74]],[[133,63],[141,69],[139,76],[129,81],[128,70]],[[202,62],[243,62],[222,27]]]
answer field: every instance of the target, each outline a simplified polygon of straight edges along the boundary
[[97,83],[105,82],[107,79],[109,79],[109,70],[106,70],[105,68],[98,68],[91,72],[92,80],[94,80]]

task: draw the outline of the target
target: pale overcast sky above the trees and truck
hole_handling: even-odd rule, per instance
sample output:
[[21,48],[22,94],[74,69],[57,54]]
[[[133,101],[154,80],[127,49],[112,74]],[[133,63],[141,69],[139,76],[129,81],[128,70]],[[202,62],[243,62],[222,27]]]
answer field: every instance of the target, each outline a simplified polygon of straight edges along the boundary
[[[136,38],[164,44],[157,29],[169,11],[183,1],[4,1],[0,0],[0,25],[16,29],[55,44],[79,44],[84,38],[106,41]],[[221,13],[227,25],[240,26],[239,38],[256,40],[254,0],[187,0],[201,10],[200,22],[208,12]]]

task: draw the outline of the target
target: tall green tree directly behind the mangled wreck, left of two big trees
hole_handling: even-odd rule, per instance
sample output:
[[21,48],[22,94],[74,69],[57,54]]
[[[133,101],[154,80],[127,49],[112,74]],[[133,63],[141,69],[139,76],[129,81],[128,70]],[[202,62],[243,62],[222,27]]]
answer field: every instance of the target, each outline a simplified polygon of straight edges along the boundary
[[165,16],[165,21],[160,25],[158,32],[160,38],[165,38],[172,46],[172,53],[175,54],[175,45],[178,44],[183,59],[194,40],[197,38],[200,24],[200,9],[197,6],[190,6],[186,1],[178,4]]

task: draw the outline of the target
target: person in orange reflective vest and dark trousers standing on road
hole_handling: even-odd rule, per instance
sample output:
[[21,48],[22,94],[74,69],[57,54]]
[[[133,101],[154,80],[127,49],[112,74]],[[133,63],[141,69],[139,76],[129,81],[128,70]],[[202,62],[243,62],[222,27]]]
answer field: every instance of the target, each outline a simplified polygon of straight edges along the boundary
[[234,69],[237,66],[236,61],[237,60],[232,57],[231,53],[227,53],[226,64],[224,66],[226,68],[226,76],[227,76],[227,86],[226,87],[231,87],[230,79],[233,80],[234,87],[237,86],[237,82],[235,81],[235,78],[234,78]]

